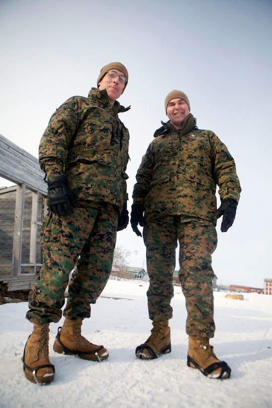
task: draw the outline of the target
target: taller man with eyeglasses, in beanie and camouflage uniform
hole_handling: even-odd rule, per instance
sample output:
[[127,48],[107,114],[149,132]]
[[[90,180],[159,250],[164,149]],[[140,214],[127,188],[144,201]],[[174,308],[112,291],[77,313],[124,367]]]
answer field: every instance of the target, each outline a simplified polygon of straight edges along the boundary
[[[52,115],[41,138],[39,161],[48,183],[48,213],[41,228],[43,264],[29,293],[26,318],[34,324],[23,353],[25,376],[51,383],[49,323],[65,320],[53,346],[57,353],[102,361],[108,351],[81,334],[110,276],[116,231],[128,224],[126,166],[129,133],[117,102],[128,82],[126,67],[104,66],[88,98],[72,97]],[[69,275],[73,268],[72,278]]]

